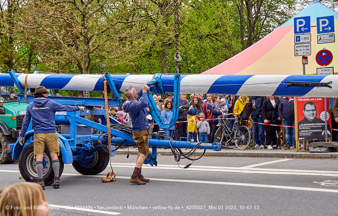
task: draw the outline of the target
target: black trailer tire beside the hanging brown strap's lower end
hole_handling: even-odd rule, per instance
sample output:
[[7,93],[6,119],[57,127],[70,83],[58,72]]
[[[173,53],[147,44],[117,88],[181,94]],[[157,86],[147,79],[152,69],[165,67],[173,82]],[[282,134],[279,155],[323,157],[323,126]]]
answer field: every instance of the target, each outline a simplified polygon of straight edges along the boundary
[[102,172],[109,163],[109,152],[105,152],[102,149],[89,156],[93,156],[92,160],[77,160],[72,163],[74,169],[82,175],[96,175]]

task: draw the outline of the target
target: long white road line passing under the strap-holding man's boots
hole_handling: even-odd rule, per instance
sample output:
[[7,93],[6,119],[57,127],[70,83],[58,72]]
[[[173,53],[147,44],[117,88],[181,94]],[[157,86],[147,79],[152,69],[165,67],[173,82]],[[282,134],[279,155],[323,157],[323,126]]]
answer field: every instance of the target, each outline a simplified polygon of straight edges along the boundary
[[[245,170],[242,170],[242,171],[245,171]],[[0,170],[0,172],[19,172],[19,171]],[[62,173],[62,175],[80,176],[80,177],[99,177],[99,178],[106,177],[106,175],[82,175],[82,174],[74,174],[74,173]],[[116,176],[116,178],[117,179],[130,179],[130,177],[125,177],[125,176]],[[199,183],[199,184],[234,185],[234,186],[277,188],[277,189],[289,189],[289,190],[306,190],[306,191],[338,193],[338,190],[325,189],[325,188],[306,188],[306,187],[293,187],[293,186],[283,186],[283,185],[262,185],[262,184],[236,183],[236,182],[212,182],[212,181],[197,181],[197,180],[182,180],[182,179],[155,179],[155,178],[149,178],[149,179],[153,180],[153,181],[166,181],[166,182],[187,182],[187,183]]]

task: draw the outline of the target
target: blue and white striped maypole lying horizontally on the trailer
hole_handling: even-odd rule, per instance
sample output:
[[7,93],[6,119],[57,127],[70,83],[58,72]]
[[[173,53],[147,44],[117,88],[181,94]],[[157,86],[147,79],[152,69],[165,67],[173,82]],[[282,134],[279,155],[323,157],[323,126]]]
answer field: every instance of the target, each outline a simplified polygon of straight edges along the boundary
[[[16,74],[25,85],[26,74]],[[153,78],[150,74],[111,74],[114,84],[123,92],[136,90]],[[172,93],[174,75],[161,76],[163,90]],[[287,83],[288,81],[288,83]],[[43,85],[49,89],[103,91],[101,74],[29,74],[27,88]],[[0,86],[13,87],[9,74],[0,74]],[[288,86],[288,87],[287,87]],[[338,75],[203,75],[181,74],[181,93],[232,94],[247,96],[297,96],[338,98]]]

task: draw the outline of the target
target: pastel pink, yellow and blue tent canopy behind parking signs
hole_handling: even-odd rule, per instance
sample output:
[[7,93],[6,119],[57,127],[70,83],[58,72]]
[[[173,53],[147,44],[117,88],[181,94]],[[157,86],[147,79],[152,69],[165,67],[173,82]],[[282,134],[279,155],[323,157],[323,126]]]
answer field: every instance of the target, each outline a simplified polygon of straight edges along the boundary
[[316,27],[317,17],[334,16],[335,29],[338,29],[338,13],[314,1],[254,45],[202,74],[303,74],[302,57],[294,56],[294,18],[307,16],[311,17],[311,55],[308,56],[306,74],[316,74],[316,68],[322,68],[316,63],[315,57],[323,47],[331,51],[334,56],[332,63],[327,67],[336,67],[336,72],[338,72],[338,42],[317,44]]

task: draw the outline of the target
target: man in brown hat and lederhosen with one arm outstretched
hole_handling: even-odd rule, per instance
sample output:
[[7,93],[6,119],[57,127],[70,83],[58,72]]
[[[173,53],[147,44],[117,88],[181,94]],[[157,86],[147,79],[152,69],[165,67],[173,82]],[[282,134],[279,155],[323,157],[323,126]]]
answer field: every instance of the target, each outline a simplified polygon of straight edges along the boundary
[[33,93],[34,100],[28,104],[26,114],[23,119],[22,130],[19,143],[24,144],[25,134],[32,118],[32,126],[34,128],[34,155],[36,157],[36,169],[38,172],[38,183],[45,189],[43,180],[43,153],[45,151],[45,143],[52,158],[52,167],[54,170],[53,188],[59,188],[60,177],[58,153],[60,151],[58,138],[55,129],[55,112],[59,111],[84,111],[84,107],[61,105],[48,99],[48,90],[44,86],[38,86]]

